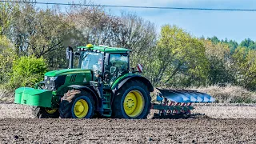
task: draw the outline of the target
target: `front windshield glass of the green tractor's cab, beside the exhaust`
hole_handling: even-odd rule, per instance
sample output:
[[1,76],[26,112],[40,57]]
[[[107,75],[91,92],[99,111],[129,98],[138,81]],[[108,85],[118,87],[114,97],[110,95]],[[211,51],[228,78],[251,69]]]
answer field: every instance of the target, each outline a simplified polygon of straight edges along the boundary
[[80,55],[81,69],[94,70],[102,73],[102,54],[85,51]]

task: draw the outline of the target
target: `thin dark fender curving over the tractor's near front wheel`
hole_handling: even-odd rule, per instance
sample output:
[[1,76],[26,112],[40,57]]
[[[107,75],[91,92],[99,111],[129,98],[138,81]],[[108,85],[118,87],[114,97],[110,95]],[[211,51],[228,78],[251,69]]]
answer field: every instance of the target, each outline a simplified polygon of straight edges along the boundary
[[97,94],[96,90],[94,90],[94,88],[92,88],[90,86],[80,86],[80,85],[70,85],[68,87],[74,88],[76,90],[84,90],[84,91],[90,93],[94,98],[94,101],[96,104],[96,106],[95,106],[96,110],[99,110],[98,108],[99,108],[99,106],[101,106],[101,102],[99,102],[98,94]]

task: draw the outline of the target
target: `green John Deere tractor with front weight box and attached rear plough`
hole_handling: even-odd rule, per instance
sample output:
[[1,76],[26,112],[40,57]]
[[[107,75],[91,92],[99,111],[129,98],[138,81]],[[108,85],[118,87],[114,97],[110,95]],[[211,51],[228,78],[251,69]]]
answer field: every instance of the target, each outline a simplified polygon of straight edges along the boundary
[[159,115],[190,114],[191,102],[214,102],[197,91],[159,89],[160,104],[151,104],[154,87],[130,68],[131,50],[88,44],[66,51],[69,69],[47,72],[34,88],[18,88],[14,102],[33,106],[38,118],[146,118],[150,108]]

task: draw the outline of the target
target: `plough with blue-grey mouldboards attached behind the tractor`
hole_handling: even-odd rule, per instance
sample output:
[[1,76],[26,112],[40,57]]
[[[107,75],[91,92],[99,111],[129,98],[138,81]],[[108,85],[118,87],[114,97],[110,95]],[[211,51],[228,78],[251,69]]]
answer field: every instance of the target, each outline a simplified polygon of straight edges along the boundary
[[197,90],[158,90],[157,101],[160,104],[153,103],[151,106],[152,109],[159,110],[158,114],[154,114],[155,117],[190,115],[194,109],[192,103],[215,101],[209,94]]

